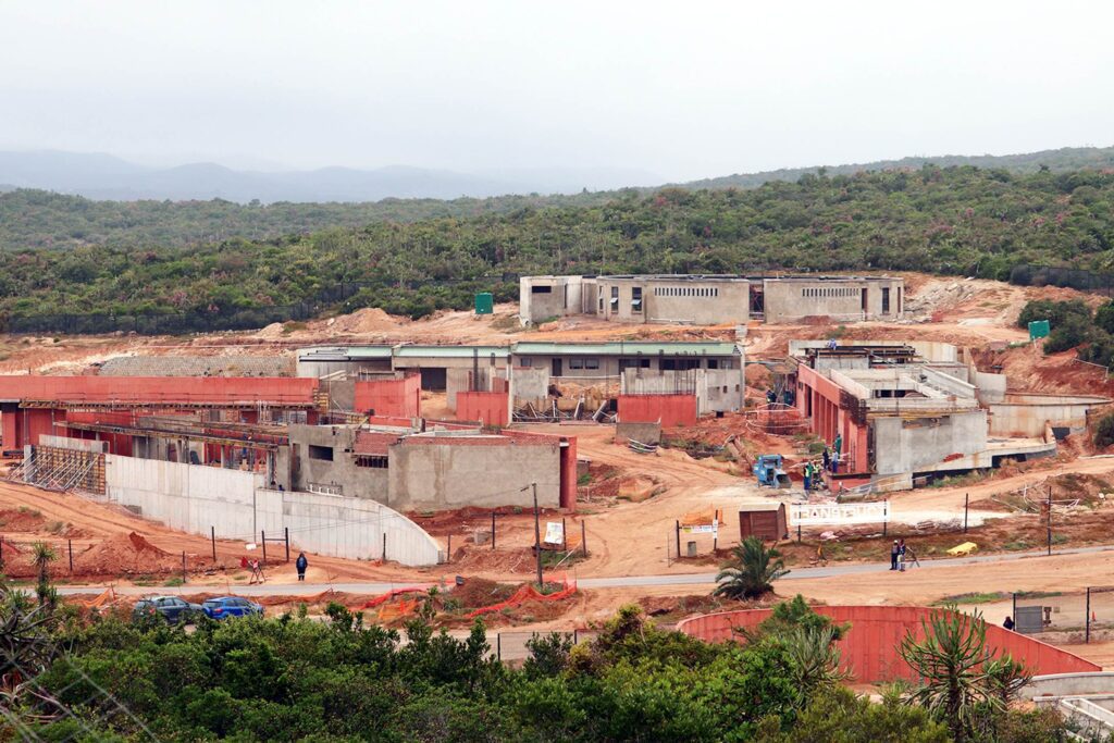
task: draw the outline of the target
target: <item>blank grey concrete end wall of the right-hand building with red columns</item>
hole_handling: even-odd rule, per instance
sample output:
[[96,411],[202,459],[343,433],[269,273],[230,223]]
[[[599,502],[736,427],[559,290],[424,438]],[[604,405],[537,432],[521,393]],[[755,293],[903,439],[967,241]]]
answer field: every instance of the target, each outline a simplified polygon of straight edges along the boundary
[[986,449],[986,411],[974,410],[938,418],[878,417],[874,430],[874,471],[880,476],[930,472],[954,454]]

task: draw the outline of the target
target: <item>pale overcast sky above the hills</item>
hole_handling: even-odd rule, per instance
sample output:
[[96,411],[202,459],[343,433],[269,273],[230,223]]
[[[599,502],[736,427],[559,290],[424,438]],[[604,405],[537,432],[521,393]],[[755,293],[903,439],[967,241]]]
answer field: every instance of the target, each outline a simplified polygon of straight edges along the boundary
[[1114,144],[1114,3],[0,0],[0,148],[692,179]]

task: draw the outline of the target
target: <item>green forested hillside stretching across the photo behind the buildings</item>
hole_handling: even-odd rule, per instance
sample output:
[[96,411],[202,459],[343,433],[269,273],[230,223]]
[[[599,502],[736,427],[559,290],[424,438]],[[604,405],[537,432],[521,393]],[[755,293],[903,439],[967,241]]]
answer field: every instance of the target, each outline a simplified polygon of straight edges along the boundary
[[[1007,278],[1018,263],[1108,270],[1114,174],[973,167],[805,175],[760,188],[625,193],[585,206],[377,221],[180,250],[139,245],[0,252],[0,310],[172,311],[208,316],[322,292],[421,315],[515,296],[505,273],[916,270]],[[441,285],[422,285],[426,282]],[[362,284],[354,296],[352,283]],[[316,310],[315,310],[316,311]],[[244,322],[248,322],[244,320]]]

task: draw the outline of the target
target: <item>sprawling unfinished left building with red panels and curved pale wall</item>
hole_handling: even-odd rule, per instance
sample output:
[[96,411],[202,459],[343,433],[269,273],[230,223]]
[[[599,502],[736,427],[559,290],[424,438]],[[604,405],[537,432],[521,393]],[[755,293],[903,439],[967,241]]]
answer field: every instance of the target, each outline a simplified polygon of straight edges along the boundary
[[[404,409],[418,380],[356,381],[353,399]],[[439,544],[397,509],[521,506],[531,482],[546,505],[575,507],[575,438],[356,417],[322,422],[336,417],[316,379],[0,378],[3,448],[22,456],[14,479],[196,534],[289,530],[325,555],[431,565]]]

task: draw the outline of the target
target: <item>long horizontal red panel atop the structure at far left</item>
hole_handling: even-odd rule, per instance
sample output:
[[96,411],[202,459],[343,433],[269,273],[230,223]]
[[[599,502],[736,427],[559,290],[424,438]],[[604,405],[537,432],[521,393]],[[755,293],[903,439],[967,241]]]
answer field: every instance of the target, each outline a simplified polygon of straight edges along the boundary
[[0,377],[0,400],[312,405],[317,380],[290,377]]

